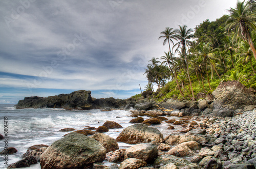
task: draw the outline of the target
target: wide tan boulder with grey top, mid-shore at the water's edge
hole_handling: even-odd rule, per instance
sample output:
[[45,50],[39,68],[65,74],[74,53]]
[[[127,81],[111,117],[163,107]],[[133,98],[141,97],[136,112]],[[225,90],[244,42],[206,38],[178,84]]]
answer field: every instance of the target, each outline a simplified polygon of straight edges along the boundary
[[159,145],[163,142],[163,134],[157,128],[148,127],[145,124],[134,124],[123,129],[116,140],[127,144],[152,143]]

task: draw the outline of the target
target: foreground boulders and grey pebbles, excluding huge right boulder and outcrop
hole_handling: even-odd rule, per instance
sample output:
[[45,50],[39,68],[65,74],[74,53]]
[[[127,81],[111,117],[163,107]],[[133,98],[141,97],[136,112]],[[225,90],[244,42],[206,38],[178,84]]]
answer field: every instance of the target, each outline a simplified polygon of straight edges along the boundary
[[[153,116],[150,112],[144,116]],[[51,146],[30,147],[22,160],[8,168],[37,162],[41,168],[255,168],[256,109],[232,118],[164,116],[169,119],[161,122],[166,128],[168,122],[179,121],[176,126],[183,129],[163,138],[159,124],[131,123],[116,139],[108,132],[86,136],[71,131]],[[131,147],[119,149],[117,142]]]

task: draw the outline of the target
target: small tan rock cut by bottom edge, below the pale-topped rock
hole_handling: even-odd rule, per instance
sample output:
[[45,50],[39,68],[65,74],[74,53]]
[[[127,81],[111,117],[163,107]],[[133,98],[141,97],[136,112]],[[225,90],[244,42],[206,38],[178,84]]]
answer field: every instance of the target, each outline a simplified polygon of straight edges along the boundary
[[136,158],[128,158],[123,162],[121,162],[119,169],[129,169],[129,168],[137,169],[143,166],[147,166],[145,161],[136,159]]

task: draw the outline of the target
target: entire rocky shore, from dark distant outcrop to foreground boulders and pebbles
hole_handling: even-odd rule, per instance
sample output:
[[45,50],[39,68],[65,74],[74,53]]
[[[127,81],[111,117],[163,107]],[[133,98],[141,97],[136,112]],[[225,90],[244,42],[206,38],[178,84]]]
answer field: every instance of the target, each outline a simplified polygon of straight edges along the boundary
[[[133,118],[126,123],[131,125],[123,128],[106,119],[97,128],[63,128],[70,132],[51,145],[41,143],[30,147],[22,160],[8,168],[35,163],[40,163],[41,168],[256,166],[256,97],[253,90],[238,81],[223,82],[212,94],[200,93],[197,101],[171,98],[156,102],[153,93],[148,92],[136,100],[94,99],[90,94],[90,91],[77,91],[48,98],[29,97],[20,100],[16,107],[122,108],[130,111]],[[121,129],[116,138],[108,135],[113,129]],[[118,143],[130,146],[119,149]]]

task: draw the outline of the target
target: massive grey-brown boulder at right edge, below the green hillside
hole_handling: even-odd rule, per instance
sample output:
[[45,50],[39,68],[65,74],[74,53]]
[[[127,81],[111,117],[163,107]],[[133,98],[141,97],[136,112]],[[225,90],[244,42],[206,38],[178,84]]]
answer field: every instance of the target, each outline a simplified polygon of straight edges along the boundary
[[221,83],[212,95],[215,98],[214,109],[234,110],[243,105],[256,104],[256,96],[236,80]]

